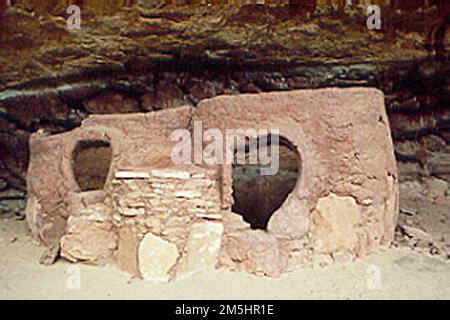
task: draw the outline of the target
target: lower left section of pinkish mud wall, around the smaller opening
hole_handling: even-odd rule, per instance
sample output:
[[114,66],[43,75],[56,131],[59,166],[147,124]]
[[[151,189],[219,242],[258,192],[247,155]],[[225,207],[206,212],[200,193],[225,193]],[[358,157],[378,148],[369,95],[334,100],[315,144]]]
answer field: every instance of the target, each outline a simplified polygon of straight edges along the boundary
[[79,193],[72,171],[73,151],[80,140],[110,142],[113,155],[105,183],[108,190],[118,169],[167,166],[173,145],[170,133],[188,127],[189,113],[189,108],[178,108],[152,114],[92,116],[80,128],[61,135],[33,135],[27,179],[27,219],[33,236],[46,245],[58,241],[70,212],[95,201],[98,193]]

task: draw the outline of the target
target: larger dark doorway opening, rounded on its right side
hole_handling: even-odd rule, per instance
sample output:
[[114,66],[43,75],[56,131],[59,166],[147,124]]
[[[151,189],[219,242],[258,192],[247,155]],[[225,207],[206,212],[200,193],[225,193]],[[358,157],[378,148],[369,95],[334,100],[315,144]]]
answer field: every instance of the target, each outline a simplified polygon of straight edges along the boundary
[[[266,137],[258,137],[253,143],[247,140],[245,146],[234,150],[232,211],[240,214],[252,229],[266,230],[272,214],[281,207],[300,178],[301,157],[296,146],[282,136],[277,139],[267,136],[264,143],[261,138]],[[255,150],[256,161],[254,154],[251,161]],[[245,163],[242,163],[244,158]],[[278,166],[273,161],[278,161]],[[277,170],[262,174],[268,167]]]

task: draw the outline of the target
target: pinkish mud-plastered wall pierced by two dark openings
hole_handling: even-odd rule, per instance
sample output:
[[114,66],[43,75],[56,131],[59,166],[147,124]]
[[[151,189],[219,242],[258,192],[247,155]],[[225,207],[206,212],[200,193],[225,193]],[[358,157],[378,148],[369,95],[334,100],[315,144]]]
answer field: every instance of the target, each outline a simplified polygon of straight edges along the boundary
[[[354,110],[361,112],[355,113]],[[231,166],[192,166],[182,169],[181,172],[194,169],[203,170],[203,174],[210,172],[209,181],[214,181],[211,182],[215,185],[211,189],[211,196],[215,197],[216,206],[208,208],[208,212],[213,216],[215,214],[224,227],[219,254],[220,266],[279,275],[311,261],[317,254],[364,255],[373,247],[392,241],[398,213],[396,165],[384,109],[384,96],[380,91],[368,88],[222,96],[204,100],[196,109],[185,107],[152,114],[94,116],[84,121],[80,128],[65,134],[50,137],[34,135],[30,141],[28,176],[31,178],[28,185],[27,219],[35,238],[44,244],[51,244],[59,241],[66,232],[69,235],[76,234],[77,228],[71,230],[71,226],[76,226],[77,222],[69,223],[66,228],[66,219],[77,212],[85,222],[100,223],[94,230],[86,229],[94,234],[97,229],[102,232],[106,230],[110,237],[104,243],[104,250],[93,250],[94,253],[100,252],[98,256],[101,259],[96,259],[94,254],[94,258],[87,260],[104,260],[116,251],[115,257],[117,254],[126,256],[127,252],[131,252],[131,256],[140,257],[142,246],[145,248],[147,242],[155,246],[156,242],[157,247],[168,246],[167,250],[161,249],[163,252],[173,251],[173,256],[169,257],[173,261],[168,263],[166,272],[160,274],[160,278],[173,276],[174,271],[170,266],[178,263],[182,254],[180,246],[188,241],[186,239],[192,239],[187,233],[190,224],[186,221],[179,224],[178,227],[184,226],[187,230],[176,237],[178,240],[162,239],[148,232],[155,228],[153,224],[161,225],[161,221],[150,223],[152,227],[147,225],[144,232],[142,228],[137,228],[139,223],[132,223],[134,227],[130,228],[134,231],[130,231],[128,227],[118,228],[121,225],[120,219],[114,222],[113,217],[121,211],[122,216],[124,215],[120,199],[125,203],[130,197],[133,201],[136,199],[123,186],[126,182],[117,181],[117,178],[120,179],[123,172],[133,172],[139,168],[173,169],[170,152],[174,142],[169,140],[170,133],[176,128],[192,130],[193,120],[202,120],[204,130],[279,129],[280,135],[297,147],[302,158],[300,179],[285,203],[273,214],[267,231],[251,230],[239,215],[229,210],[232,203]],[[113,148],[110,174],[104,191],[79,193],[71,173],[70,156],[78,140],[91,138],[110,141]],[[145,176],[153,169],[141,171]],[[151,177],[150,174],[148,178]],[[144,186],[155,182],[147,181]],[[173,185],[159,182],[168,188]],[[175,189],[183,191],[181,185],[177,185],[175,184]],[[142,189],[145,187],[135,187],[138,194],[147,194],[148,190]],[[211,185],[208,188],[210,187]],[[177,197],[171,191],[158,190],[160,195],[169,192],[171,196]],[[148,194],[152,192],[154,191],[148,191]],[[207,194],[206,192],[205,195]],[[168,199],[171,197],[166,196]],[[207,196],[206,199],[211,198]],[[167,206],[165,214],[169,214],[173,206],[176,207],[175,202],[169,204],[158,200],[159,205],[155,206],[148,199],[141,200],[137,201],[137,207],[131,206],[132,217],[142,213],[154,217],[156,211],[152,212],[152,208],[161,205]],[[145,203],[144,210],[139,207],[142,202]],[[189,206],[183,206],[184,211],[181,210],[178,214],[185,212],[185,216],[180,218],[193,221],[194,219],[189,219],[193,212],[186,213],[189,211],[185,210]],[[148,212],[145,209],[147,207],[150,208]],[[92,217],[93,212],[101,212],[100,216],[103,218],[86,218]],[[71,217],[69,222],[71,219],[76,218]],[[136,222],[135,219],[131,220]],[[211,220],[208,217],[200,219],[205,219],[205,223]],[[198,228],[209,230],[203,225]],[[214,226],[212,229],[220,228]],[[81,230],[83,228],[78,229],[82,233]],[[221,232],[214,234],[221,235]],[[151,238],[146,240],[147,235]],[[120,237],[134,239],[130,240],[134,245],[125,241],[128,244],[119,245],[117,250]],[[78,235],[78,239],[80,238],[83,235]],[[64,249],[64,241],[62,245],[63,251],[67,251]],[[138,254],[135,254],[136,250],[139,250]],[[70,255],[67,256],[70,258]],[[123,268],[142,275],[142,270],[149,269],[140,263],[141,261],[136,262],[139,270],[133,265]]]

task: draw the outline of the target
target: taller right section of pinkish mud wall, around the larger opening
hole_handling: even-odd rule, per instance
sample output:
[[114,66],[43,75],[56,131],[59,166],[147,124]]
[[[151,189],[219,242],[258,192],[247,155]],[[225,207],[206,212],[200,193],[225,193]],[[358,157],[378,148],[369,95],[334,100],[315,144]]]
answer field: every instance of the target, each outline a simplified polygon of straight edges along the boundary
[[[319,252],[350,250],[360,255],[392,242],[398,215],[398,178],[380,91],[352,88],[223,96],[200,102],[193,119],[202,120],[205,130],[278,129],[298,148],[302,159],[299,182],[268,224],[267,231],[278,239],[280,250],[284,242],[305,237]],[[227,168],[222,180],[227,198],[227,192],[231,194]],[[339,206],[331,213],[331,206],[324,204],[327,200],[320,201],[330,194],[350,197],[352,205],[346,208],[337,201]],[[354,223],[347,225],[338,218],[335,222],[331,221],[334,218],[331,222],[315,219],[323,207],[330,208],[326,217],[343,211],[341,219],[345,215]],[[335,232],[323,232],[327,223]],[[237,256],[231,255],[231,260],[246,257],[251,265],[244,251],[247,239],[242,237],[242,243],[237,244],[239,239],[233,236],[233,254]],[[315,239],[319,239],[317,247]],[[326,249],[323,243],[328,244]]]

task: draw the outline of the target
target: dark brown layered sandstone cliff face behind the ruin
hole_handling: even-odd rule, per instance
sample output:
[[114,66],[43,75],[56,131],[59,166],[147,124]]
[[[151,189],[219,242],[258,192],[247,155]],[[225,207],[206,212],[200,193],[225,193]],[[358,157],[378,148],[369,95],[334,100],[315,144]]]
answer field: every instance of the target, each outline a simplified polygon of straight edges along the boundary
[[79,32],[67,30],[64,10],[2,8],[2,197],[25,191],[33,132],[64,132],[95,113],[327,86],[381,89],[400,179],[448,179],[449,64],[436,58],[433,45],[425,49],[429,31],[445,15],[442,7],[389,14],[382,31],[368,31],[358,10],[119,6],[99,17],[87,6]]

